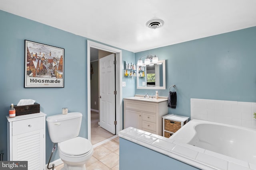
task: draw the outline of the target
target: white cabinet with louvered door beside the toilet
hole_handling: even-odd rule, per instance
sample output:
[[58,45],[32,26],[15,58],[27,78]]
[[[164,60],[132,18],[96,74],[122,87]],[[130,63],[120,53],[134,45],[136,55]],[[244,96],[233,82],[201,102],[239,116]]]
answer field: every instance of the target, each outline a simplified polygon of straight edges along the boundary
[[28,170],[45,169],[45,116],[42,112],[6,116],[8,160],[28,161]]

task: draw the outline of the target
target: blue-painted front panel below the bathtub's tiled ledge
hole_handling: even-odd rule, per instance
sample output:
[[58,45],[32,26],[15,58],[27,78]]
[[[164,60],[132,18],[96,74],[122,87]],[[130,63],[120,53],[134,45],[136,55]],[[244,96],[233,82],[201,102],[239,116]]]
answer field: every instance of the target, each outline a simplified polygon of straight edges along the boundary
[[198,170],[193,166],[119,138],[119,167],[122,170]]

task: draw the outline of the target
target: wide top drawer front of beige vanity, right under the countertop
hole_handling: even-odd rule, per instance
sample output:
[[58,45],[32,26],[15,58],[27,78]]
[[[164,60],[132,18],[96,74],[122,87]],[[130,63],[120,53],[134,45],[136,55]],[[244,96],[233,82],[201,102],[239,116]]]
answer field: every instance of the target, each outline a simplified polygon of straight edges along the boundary
[[147,111],[151,113],[156,113],[156,105],[153,104],[144,104],[137,102],[126,102],[126,109],[135,109],[140,111]]

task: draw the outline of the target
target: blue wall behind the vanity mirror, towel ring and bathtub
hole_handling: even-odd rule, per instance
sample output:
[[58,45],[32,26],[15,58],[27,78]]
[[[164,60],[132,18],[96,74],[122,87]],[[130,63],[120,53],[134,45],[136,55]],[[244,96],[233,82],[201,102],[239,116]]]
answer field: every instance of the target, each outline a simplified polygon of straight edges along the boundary
[[[168,113],[190,117],[190,98],[256,102],[256,27],[142,51],[135,60],[147,54],[166,60],[159,96],[177,87],[177,107]],[[145,93],[155,90],[135,90]]]

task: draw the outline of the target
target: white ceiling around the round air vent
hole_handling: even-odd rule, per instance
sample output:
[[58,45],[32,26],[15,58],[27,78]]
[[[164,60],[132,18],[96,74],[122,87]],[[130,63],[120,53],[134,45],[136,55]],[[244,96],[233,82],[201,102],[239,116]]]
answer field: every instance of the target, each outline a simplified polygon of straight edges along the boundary
[[[256,0],[0,0],[0,10],[132,52],[256,26]],[[152,19],[164,26],[149,29]]]

